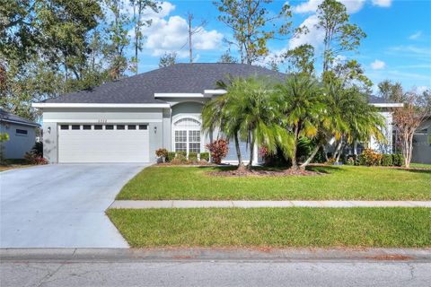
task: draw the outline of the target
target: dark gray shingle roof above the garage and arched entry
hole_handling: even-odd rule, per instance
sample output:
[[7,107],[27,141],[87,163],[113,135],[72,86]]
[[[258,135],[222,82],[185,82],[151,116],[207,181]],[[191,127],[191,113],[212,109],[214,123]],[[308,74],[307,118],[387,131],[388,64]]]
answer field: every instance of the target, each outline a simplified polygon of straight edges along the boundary
[[154,93],[198,93],[216,88],[217,81],[231,76],[273,76],[279,79],[286,74],[263,67],[245,64],[196,63],[176,64],[137,74],[112,83],[104,83],[88,91],[66,93],[51,103],[163,103],[154,99]]

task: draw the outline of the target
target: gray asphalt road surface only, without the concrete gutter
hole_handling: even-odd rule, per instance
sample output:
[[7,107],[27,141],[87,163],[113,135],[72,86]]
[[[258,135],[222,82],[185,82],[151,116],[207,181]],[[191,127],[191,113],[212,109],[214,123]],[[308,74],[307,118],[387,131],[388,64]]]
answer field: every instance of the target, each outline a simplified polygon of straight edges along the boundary
[[430,286],[415,262],[8,262],[6,286]]

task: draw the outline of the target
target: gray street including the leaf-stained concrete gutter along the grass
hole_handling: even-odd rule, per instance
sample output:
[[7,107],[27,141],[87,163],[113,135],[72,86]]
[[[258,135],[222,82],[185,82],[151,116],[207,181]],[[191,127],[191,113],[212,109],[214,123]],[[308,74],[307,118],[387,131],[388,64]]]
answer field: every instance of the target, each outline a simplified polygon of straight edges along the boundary
[[430,249],[0,249],[0,286],[431,286]]

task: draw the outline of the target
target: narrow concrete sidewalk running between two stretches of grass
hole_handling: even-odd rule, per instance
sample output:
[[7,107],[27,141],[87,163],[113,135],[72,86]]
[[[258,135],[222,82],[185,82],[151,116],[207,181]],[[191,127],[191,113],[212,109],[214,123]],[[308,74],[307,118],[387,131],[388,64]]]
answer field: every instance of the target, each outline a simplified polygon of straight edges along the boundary
[[207,208],[207,207],[428,207],[431,201],[243,201],[243,200],[116,200],[110,208]]

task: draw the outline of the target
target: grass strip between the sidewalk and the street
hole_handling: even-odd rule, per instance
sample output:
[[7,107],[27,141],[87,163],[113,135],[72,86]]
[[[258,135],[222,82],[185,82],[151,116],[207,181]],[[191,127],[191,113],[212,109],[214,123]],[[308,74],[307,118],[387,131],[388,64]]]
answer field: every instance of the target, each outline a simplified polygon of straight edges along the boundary
[[431,246],[427,208],[110,209],[133,248]]

